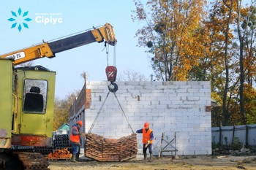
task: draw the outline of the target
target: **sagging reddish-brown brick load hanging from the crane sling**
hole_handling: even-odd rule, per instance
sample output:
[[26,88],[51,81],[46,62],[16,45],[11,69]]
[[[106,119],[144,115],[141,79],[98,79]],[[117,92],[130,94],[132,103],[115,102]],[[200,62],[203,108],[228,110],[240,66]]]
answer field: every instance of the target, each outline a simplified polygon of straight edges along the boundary
[[101,162],[119,162],[136,158],[137,135],[120,139],[105,139],[97,134],[86,134],[85,156]]

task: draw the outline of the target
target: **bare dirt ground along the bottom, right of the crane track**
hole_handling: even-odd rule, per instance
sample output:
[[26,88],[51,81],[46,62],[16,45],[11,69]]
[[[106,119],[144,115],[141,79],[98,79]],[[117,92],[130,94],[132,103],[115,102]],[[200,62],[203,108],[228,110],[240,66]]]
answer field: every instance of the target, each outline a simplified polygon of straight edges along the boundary
[[256,156],[177,156],[176,158],[154,157],[152,162],[145,162],[141,158],[135,158],[124,162],[98,162],[98,161],[81,161],[72,163],[71,161],[50,161],[50,170],[82,170],[82,169],[113,169],[113,170],[233,170],[233,169],[255,169]]

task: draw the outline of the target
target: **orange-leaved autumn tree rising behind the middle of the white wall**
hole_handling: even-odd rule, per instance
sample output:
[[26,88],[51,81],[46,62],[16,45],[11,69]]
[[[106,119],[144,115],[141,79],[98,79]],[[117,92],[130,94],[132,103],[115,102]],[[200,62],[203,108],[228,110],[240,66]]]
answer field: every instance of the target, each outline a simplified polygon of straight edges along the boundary
[[187,80],[192,66],[206,53],[201,34],[203,5],[206,1],[148,1],[146,7],[135,1],[132,19],[144,21],[139,29],[138,45],[149,47],[151,66],[158,80]]

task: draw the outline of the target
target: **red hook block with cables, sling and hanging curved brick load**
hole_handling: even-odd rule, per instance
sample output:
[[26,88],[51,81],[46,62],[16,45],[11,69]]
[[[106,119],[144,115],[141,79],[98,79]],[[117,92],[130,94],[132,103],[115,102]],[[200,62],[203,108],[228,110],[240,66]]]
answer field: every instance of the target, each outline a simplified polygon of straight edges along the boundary
[[[115,47],[115,46],[114,46]],[[115,55],[115,54],[114,54]],[[108,58],[108,49],[107,49],[107,58]],[[107,60],[108,61],[108,60]],[[116,85],[116,58],[114,56],[114,66],[107,66],[105,72],[107,74],[108,81],[110,85],[108,85],[108,94],[105,100],[102,102],[102,106],[97,112],[97,115],[94,119],[94,122],[91,124],[91,128],[89,129],[89,133],[86,134],[86,144],[85,148],[85,156],[87,158],[92,158],[97,161],[127,161],[131,158],[135,158],[138,152],[138,143],[137,143],[137,135],[132,130],[132,126],[129,124],[127,116],[124,113],[124,109],[121,107],[120,102],[116,96],[116,91],[118,90],[118,85]],[[112,88],[113,86],[113,88]],[[91,134],[92,129],[99,117],[102,108],[104,107],[105,101],[107,100],[109,94],[113,93],[118,101],[119,107],[121,108],[124,117],[127,120],[129,128],[132,130],[132,134],[129,136],[121,137],[120,139],[105,139],[103,136],[97,134]]]

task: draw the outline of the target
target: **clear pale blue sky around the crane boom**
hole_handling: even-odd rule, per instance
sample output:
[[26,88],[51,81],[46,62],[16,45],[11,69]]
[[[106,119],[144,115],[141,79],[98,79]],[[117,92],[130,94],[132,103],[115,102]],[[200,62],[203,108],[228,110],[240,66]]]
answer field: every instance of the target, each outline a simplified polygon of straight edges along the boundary
[[[24,47],[36,45],[42,40],[50,41],[61,36],[67,36],[83,31],[92,26],[102,26],[110,23],[114,27],[116,39],[116,67],[118,74],[126,70],[140,72],[150,80],[153,71],[147,50],[137,47],[138,38],[135,33],[140,28],[138,23],[132,22],[132,10],[135,5],[132,0],[45,0],[45,1],[0,1],[0,54],[20,50]],[[18,13],[18,9],[29,12],[27,17],[32,20],[26,22],[29,28],[18,31],[12,27],[11,12]],[[43,23],[42,18],[57,18],[57,23]],[[56,54],[56,58],[42,58],[34,61],[35,65],[42,65],[56,71],[56,97],[64,98],[67,94],[83,88],[84,80],[80,76],[86,72],[89,81],[107,80],[105,68],[107,55],[104,43],[94,42],[72,50]],[[103,51],[102,51],[103,50]],[[109,65],[113,65],[113,47],[110,47]]]

